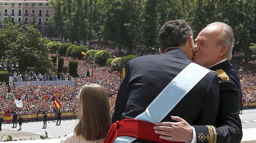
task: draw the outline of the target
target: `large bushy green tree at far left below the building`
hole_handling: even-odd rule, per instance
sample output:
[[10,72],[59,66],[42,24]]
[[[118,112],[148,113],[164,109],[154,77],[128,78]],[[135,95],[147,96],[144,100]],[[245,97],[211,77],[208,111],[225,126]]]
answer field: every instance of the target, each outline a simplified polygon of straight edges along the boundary
[[21,23],[17,25],[5,23],[4,26],[5,28],[0,31],[0,45],[6,47],[4,50],[0,48],[0,53],[3,52],[0,62],[19,62],[20,71],[24,71],[27,67],[36,67],[45,69],[40,71],[44,73],[51,67],[49,50],[40,31],[28,25],[23,26]]

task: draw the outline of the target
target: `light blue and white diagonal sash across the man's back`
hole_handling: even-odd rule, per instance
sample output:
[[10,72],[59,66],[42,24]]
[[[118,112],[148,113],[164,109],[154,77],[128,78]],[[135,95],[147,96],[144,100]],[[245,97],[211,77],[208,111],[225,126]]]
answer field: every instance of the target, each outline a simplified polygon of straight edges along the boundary
[[[148,105],[146,111],[134,119],[144,120],[153,124],[163,120],[180,100],[209,73],[210,70],[191,63],[184,68],[158,96]],[[136,140],[129,136],[119,136],[114,143],[130,143]]]

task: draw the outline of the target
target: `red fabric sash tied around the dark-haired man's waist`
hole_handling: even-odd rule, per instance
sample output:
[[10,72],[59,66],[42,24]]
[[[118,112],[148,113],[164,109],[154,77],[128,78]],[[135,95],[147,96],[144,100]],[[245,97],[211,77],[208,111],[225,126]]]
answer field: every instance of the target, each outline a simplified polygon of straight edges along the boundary
[[150,140],[158,143],[183,143],[170,142],[160,139],[158,134],[154,133],[155,124],[135,119],[124,119],[116,121],[110,127],[110,130],[103,143],[113,143],[118,136],[130,136],[142,140]]

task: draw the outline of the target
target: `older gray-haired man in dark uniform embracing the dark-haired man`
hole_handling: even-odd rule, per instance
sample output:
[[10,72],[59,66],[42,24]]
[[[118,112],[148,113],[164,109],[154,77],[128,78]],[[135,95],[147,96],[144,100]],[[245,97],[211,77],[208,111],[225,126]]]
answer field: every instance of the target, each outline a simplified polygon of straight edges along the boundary
[[215,71],[219,77],[220,103],[215,126],[189,125],[178,116],[177,122],[157,123],[155,133],[161,139],[191,143],[240,143],[242,125],[241,86],[237,70],[230,63],[234,45],[232,28],[225,23],[207,25],[195,39],[193,62]]

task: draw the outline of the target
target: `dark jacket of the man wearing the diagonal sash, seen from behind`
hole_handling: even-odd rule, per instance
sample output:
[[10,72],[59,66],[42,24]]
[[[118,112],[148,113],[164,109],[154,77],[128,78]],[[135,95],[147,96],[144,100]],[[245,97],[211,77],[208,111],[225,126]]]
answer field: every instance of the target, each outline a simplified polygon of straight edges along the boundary
[[[144,112],[169,82],[190,63],[186,53],[178,48],[168,50],[165,54],[130,60],[118,92],[112,121],[134,118]],[[189,124],[213,125],[219,107],[218,82],[216,73],[208,73],[162,121],[172,121],[171,116],[179,116]]]

